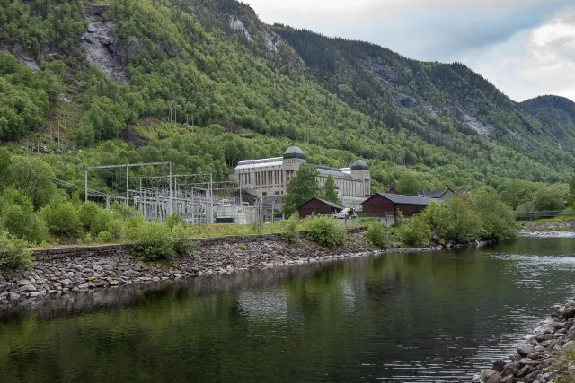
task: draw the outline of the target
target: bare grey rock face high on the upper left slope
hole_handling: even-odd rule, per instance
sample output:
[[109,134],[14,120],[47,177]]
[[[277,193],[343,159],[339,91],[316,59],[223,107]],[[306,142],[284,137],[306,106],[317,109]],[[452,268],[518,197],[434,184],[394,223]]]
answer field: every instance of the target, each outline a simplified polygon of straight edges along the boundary
[[[88,31],[82,36],[82,48],[86,50],[86,57],[93,65],[102,68],[116,81],[128,79],[125,71],[125,54],[119,48],[119,43],[112,33],[112,22],[104,22],[102,15],[90,9],[86,12],[90,25]],[[128,42],[135,45],[137,41]]]

